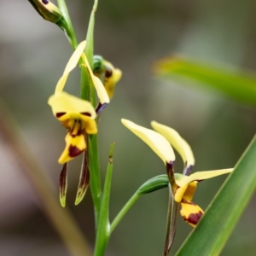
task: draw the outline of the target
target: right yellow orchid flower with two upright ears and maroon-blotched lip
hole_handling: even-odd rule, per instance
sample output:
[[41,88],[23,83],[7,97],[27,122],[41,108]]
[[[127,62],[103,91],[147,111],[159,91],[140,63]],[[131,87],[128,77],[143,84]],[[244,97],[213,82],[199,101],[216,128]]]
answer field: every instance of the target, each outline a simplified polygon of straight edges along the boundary
[[[233,171],[233,169],[195,172],[189,175],[189,171],[195,164],[194,155],[189,147],[189,144],[182,137],[180,137],[177,131],[155,121],[151,123],[155,131],[144,128],[140,125],[136,125],[127,119],[122,119],[121,121],[123,125],[136,134],[137,137],[140,137],[144,143],[147,143],[148,146],[160,156],[160,159],[164,161],[172,186],[174,201],[181,206],[181,216],[188,224],[195,227],[204,213],[201,207],[192,202],[197,183],[211,177],[217,177],[219,175],[230,173]],[[169,148],[171,147],[170,143],[183,159],[185,165],[184,174],[173,172],[173,162],[175,160],[175,156],[173,154],[173,150]],[[167,146],[167,144],[169,144],[169,146]]]

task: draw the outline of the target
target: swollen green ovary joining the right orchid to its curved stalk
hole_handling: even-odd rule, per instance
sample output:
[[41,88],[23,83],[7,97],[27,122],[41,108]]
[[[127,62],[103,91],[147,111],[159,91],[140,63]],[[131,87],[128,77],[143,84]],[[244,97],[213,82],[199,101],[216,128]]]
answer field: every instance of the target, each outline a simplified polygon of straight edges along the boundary
[[137,189],[138,195],[148,194],[154,192],[158,189],[163,189],[168,187],[169,185],[169,178],[166,174],[159,175],[156,177],[152,177],[148,179],[139,189]]

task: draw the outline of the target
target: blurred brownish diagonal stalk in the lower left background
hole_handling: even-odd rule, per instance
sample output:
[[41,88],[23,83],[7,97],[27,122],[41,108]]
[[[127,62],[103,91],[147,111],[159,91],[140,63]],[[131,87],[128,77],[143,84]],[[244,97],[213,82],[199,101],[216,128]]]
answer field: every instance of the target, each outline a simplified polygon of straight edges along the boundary
[[[6,118],[7,116],[8,119]],[[73,256],[91,255],[89,245],[82,232],[70,212],[67,211],[67,208],[60,206],[52,181],[46,174],[47,172],[36,160],[26,140],[22,137],[15,119],[2,102],[0,102],[0,132],[8,141],[16,160],[30,179],[36,194],[44,206],[44,212],[48,215],[55,230],[66,244],[69,253]]]

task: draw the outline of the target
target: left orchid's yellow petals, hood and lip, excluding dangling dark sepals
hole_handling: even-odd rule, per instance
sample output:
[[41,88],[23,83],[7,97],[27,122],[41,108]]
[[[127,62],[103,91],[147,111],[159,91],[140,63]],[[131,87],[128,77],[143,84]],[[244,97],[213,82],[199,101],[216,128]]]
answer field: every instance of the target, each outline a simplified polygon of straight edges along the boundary
[[48,101],[53,114],[68,131],[65,138],[66,148],[58,160],[60,164],[73,160],[74,157],[84,151],[86,148],[85,132],[87,134],[96,134],[97,132],[96,111],[91,103],[63,91],[68,75],[77,66],[80,57],[83,60],[82,65],[87,68],[90,79],[95,85],[99,101],[102,104],[108,104],[109,102],[107,91],[101,80],[92,73],[87,58],[84,55],[85,45],[86,42],[83,41],[73,52],[61,79],[59,79],[56,85],[55,94],[50,96]]

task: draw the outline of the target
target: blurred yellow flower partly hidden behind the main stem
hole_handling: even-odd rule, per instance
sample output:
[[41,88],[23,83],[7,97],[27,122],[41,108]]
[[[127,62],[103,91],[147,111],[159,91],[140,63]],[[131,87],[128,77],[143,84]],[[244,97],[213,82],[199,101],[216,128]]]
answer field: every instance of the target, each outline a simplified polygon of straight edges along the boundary
[[113,97],[115,85],[122,77],[122,71],[119,68],[113,67],[113,64],[104,60],[102,56],[94,56],[94,69],[93,73],[99,78],[104,80],[104,86],[107,90],[108,96]]

